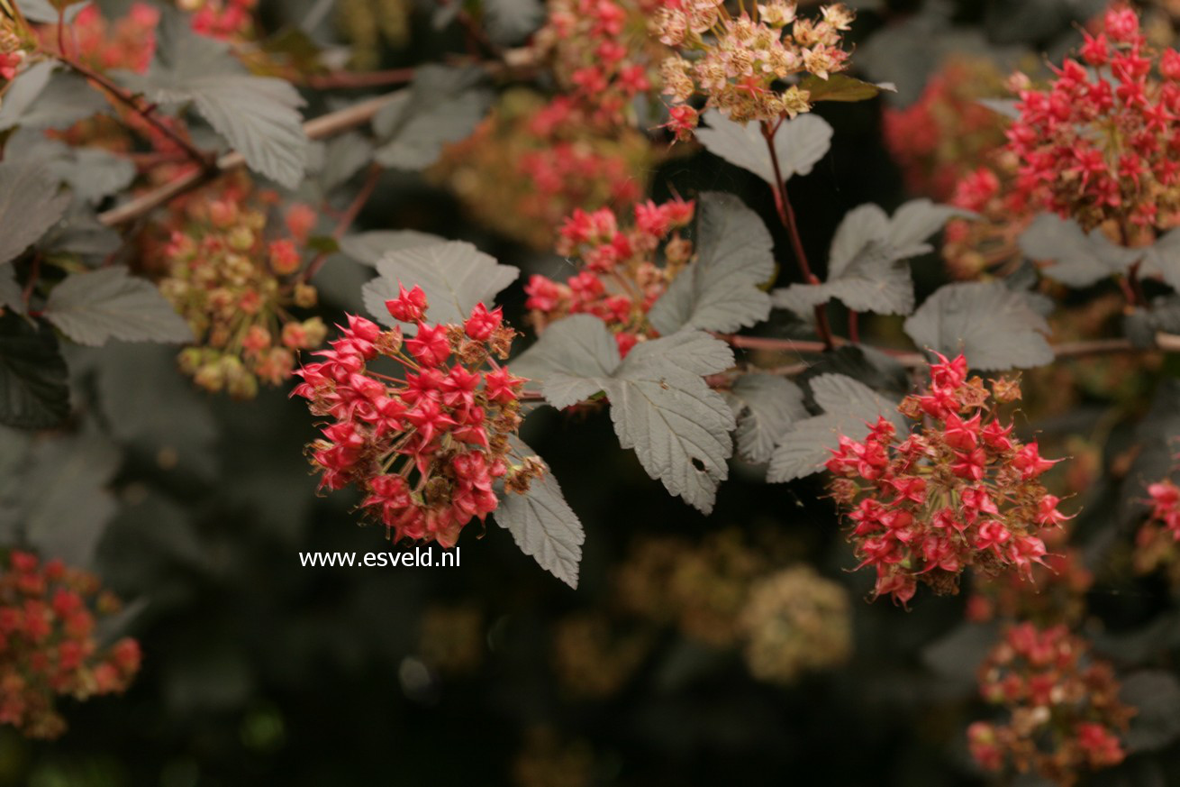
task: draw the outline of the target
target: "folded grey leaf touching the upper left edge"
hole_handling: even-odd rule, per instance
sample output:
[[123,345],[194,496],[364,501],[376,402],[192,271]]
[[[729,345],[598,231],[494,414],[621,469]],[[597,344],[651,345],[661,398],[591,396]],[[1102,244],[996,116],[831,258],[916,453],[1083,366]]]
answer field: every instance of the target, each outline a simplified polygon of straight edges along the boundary
[[81,77],[37,63],[13,80],[0,104],[0,131],[67,129],[78,121],[109,113],[111,105]]

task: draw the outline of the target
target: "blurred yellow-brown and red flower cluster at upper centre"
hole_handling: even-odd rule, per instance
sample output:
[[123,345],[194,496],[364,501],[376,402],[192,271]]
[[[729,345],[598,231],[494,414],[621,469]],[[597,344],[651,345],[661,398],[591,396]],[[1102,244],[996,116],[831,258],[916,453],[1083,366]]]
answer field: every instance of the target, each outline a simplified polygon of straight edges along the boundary
[[549,248],[575,209],[624,210],[638,202],[656,157],[634,128],[584,123],[571,98],[546,104],[531,91],[511,90],[474,134],[448,145],[432,174],[480,222]]

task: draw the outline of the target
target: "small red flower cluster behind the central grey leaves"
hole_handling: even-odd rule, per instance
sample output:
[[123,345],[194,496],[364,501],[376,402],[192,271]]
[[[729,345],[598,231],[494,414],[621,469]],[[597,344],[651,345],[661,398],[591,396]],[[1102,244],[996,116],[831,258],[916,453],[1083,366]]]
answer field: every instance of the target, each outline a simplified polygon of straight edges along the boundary
[[[620,229],[608,208],[573,212],[562,225],[557,253],[578,258],[584,269],[558,284],[533,274],[525,285],[537,332],[569,314],[594,314],[615,334],[627,355],[640,338],[655,336],[647,313],[693,256],[693,245],[678,230],[693,221],[691,200],[635,206],[635,223]],[[667,242],[664,242],[667,241]],[[663,243],[666,265],[656,264]]]

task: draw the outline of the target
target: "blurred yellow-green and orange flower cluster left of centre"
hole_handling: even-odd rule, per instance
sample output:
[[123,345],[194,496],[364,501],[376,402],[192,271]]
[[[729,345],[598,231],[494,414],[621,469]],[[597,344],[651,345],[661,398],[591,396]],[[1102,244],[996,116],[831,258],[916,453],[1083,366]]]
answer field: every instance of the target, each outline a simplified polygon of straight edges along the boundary
[[171,206],[162,232],[169,241],[160,292],[197,337],[181,368],[201,388],[250,398],[260,381],[280,385],[295,353],[319,346],[327,329],[317,317],[296,320],[316,291],[299,275],[314,212],[295,206],[275,229],[277,195],[234,176]]

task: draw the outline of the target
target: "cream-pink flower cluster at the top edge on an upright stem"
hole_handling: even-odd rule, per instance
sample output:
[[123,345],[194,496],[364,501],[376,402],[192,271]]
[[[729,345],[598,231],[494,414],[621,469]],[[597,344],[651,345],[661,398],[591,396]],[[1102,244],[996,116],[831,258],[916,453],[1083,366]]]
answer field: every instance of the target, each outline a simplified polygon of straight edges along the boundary
[[696,128],[694,96],[739,123],[774,123],[811,111],[811,93],[786,82],[802,74],[826,80],[847,67],[847,7],[824,6],[818,19],[799,17],[787,0],[750,7],[753,15],[734,17],[721,0],[666,0],[655,17],[654,33],[678,52],[660,69],[671,98],[668,128],[677,138],[691,138]]

